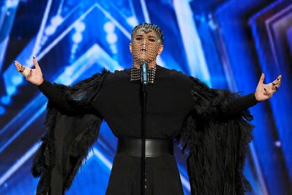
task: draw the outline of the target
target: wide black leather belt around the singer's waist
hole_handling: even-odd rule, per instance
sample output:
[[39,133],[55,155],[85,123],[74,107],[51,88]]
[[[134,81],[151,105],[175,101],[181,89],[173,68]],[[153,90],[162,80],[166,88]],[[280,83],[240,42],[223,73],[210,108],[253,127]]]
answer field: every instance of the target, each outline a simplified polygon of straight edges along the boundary
[[[126,153],[134,157],[142,157],[143,139],[119,138],[117,153]],[[158,157],[163,154],[173,155],[172,139],[146,139],[145,157]]]

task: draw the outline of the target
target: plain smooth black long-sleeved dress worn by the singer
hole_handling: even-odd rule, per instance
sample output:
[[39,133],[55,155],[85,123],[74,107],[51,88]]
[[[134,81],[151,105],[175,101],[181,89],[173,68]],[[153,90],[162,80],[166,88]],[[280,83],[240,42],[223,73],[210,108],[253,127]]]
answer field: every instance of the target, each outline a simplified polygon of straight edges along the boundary
[[[106,120],[116,137],[141,138],[141,85],[130,81],[130,69],[109,74],[90,100],[94,109]],[[44,81],[40,90],[47,98],[63,110],[70,110],[64,94],[56,86]],[[183,125],[194,112],[195,103],[190,95],[190,77],[176,70],[156,65],[154,84],[147,87],[146,138],[175,139]],[[237,114],[256,104],[254,94],[245,95],[229,102],[220,117]],[[226,113],[226,111],[228,111]],[[58,144],[58,143],[57,143]],[[58,156],[58,151],[56,151]],[[184,194],[173,155],[146,158],[146,194]],[[53,168],[53,172],[54,172]],[[56,171],[56,170],[55,170]],[[53,173],[54,177],[54,173]],[[55,187],[60,180],[51,180],[51,194],[62,193]],[[54,192],[55,191],[55,192]],[[124,153],[115,155],[106,194],[140,194],[140,157]]]

